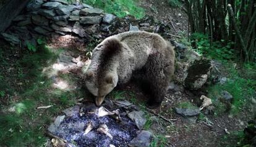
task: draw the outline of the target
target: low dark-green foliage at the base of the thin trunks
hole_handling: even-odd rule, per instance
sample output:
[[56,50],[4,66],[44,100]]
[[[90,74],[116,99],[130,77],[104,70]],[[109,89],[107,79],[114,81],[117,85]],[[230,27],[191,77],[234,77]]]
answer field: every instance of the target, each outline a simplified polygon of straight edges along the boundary
[[226,61],[234,60],[234,50],[231,49],[233,42],[228,42],[224,44],[224,40],[210,42],[207,34],[194,33],[192,34],[192,40],[197,44],[197,49],[202,52],[202,54],[208,57],[214,58],[216,60]]

